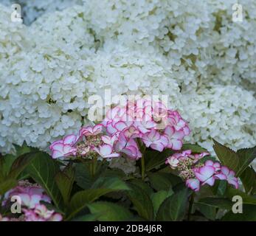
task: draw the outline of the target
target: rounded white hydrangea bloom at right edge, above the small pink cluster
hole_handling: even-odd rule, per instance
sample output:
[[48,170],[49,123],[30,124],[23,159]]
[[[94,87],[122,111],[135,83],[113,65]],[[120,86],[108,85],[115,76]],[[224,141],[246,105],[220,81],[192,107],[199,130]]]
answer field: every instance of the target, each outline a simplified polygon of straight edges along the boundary
[[212,86],[186,94],[181,109],[190,122],[192,142],[209,151],[212,139],[237,150],[255,145],[256,100],[238,86]]

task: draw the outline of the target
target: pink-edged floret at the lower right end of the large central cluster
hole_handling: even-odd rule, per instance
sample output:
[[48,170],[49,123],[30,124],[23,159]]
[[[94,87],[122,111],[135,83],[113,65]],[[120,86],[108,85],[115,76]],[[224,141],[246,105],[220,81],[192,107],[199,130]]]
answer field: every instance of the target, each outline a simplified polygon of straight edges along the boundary
[[181,150],[182,139],[185,136],[183,131],[176,131],[175,128],[168,125],[165,128],[165,135],[168,138],[167,147],[173,150]]

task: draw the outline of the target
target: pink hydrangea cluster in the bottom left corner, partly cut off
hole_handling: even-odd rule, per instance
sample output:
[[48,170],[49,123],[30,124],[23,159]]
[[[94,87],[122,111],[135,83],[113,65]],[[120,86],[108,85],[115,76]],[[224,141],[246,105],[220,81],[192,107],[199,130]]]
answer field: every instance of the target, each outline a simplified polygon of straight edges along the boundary
[[[51,203],[51,199],[38,186],[30,184],[28,181],[20,181],[19,185],[4,195],[3,206],[8,203],[12,196],[18,196],[21,199],[21,209],[24,215],[18,219],[21,221],[62,221],[62,216],[54,210],[49,210],[41,204],[41,201]],[[15,218],[13,218],[15,219]],[[4,221],[13,221],[12,218],[3,218]]]

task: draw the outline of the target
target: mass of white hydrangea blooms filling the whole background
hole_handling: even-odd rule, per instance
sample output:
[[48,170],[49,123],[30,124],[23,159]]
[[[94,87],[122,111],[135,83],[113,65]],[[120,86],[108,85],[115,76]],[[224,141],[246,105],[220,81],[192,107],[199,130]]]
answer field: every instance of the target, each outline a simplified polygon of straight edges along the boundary
[[86,121],[88,97],[168,94],[169,107],[233,149],[256,145],[256,1],[0,0],[0,151],[40,147]]

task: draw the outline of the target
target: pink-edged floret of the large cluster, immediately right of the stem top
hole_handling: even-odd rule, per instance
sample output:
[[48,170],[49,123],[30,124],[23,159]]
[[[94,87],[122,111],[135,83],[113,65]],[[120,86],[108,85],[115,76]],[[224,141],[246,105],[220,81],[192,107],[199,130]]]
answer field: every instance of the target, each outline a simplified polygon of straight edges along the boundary
[[146,147],[159,150],[159,152],[162,152],[168,144],[167,136],[161,135],[156,130],[151,130],[151,132],[145,133],[142,136],[142,141],[145,143]]

